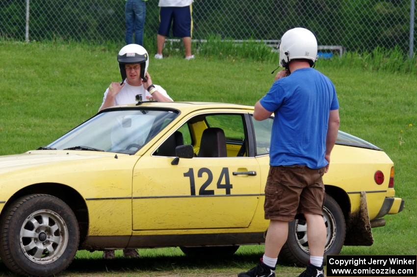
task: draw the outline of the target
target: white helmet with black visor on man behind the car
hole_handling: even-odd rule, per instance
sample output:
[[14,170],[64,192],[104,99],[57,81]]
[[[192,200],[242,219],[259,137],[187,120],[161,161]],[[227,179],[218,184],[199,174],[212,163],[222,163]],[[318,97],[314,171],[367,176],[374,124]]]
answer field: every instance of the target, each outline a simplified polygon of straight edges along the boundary
[[145,79],[145,74],[148,71],[149,55],[145,48],[138,44],[128,44],[124,46],[117,55],[119,62],[120,74],[122,75],[122,82],[126,79],[125,64],[140,64],[140,77]]

